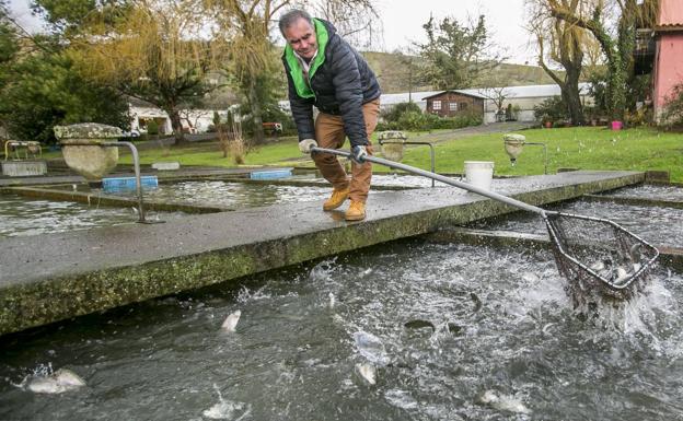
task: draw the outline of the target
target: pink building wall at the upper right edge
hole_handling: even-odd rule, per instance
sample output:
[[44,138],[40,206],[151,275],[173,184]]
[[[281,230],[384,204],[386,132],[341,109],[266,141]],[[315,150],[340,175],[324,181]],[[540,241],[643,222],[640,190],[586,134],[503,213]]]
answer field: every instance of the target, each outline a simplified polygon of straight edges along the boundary
[[683,83],[683,0],[659,4],[652,98],[658,121],[673,86]]

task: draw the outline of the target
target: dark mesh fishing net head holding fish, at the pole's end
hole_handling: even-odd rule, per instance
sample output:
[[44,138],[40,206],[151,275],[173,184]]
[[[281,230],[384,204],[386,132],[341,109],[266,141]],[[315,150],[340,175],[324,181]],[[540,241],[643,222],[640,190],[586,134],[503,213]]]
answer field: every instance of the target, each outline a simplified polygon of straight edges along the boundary
[[553,213],[545,218],[559,272],[575,305],[595,295],[628,300],[657,259],[655,247],[603,219]]

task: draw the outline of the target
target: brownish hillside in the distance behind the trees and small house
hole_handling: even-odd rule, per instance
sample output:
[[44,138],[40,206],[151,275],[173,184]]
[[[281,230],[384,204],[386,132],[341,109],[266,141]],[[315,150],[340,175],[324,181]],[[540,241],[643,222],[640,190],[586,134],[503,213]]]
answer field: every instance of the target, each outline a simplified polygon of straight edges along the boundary
[[[410,84],[410,72],[408,62],[413,60],[413,67],[417,66],[418,57],[404,56],[393,52],[362,52],[366,60],[378,75],[382,92],[384,93],[398,93],[407,92]],[[414,70],[415,71],[415,70]],[[523,65],[508,65],[503,63],[497,71],[497,79],[507,81],[507,86],[523,86],[523,85],[542,85],[555,83],[553,80],[541,69],[535,66]],[[478,86],[466,86],[478,87]],[[431,91],[429,85],[413,86],[413,91]]]

